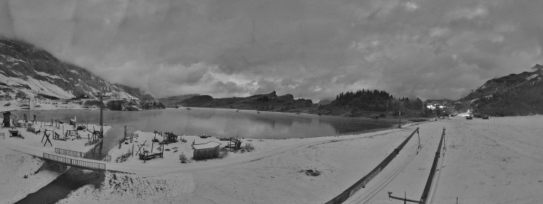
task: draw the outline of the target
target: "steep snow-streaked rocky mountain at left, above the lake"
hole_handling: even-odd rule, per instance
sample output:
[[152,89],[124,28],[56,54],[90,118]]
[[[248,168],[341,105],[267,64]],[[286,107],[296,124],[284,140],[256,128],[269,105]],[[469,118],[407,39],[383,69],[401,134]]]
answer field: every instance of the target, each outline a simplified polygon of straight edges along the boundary
[[139,89],[110,84],[31,44],[0,37],[0,100],[68,99],[106,90],[111,98],[152,98]]

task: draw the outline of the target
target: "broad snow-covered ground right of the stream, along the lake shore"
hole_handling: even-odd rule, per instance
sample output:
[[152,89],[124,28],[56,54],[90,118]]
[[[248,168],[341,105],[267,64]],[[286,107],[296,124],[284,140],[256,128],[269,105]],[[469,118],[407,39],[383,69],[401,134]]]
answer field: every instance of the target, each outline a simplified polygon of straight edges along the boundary
[[[184,164],[178,155],[183,152],[190,158],[192,141],[219,140],[184,136],[188,142],[169,144],[166,148],[178,146],[178,152],[165,151],[164,158],[142,162],[134,156],[115,162],[131,150],[130,143],[122,144],[110,152],[107,168],[127,173],[106,172],[99,189],[87,185],[59,203],[324,203],[364,177],[416,127],[422,149],[417,150],[415,134],[389,166],[346,203],[401,202],[389,200],[387,191],[399,197],[405,191],[408,198],[420,199],[444,128],[444,150],[429,195],[434,203],[456,203],[457,197],[459,203],[540,203],[542,122],[541,115],[451,117],[350,136],[243,139],[255,150]],[[137,144],[154,136],[136,133]]]

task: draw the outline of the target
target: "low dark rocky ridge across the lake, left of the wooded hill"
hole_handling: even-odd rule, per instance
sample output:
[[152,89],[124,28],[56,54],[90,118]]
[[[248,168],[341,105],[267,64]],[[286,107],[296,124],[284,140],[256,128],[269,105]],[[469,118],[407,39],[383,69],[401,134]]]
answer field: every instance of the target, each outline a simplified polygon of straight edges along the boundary
[[269,94],[257,94],[248,97],[213,98],[207,95],[193,96],[184,99],[179,104],[187,107],[236,108],[292,113],[307,112],[307,109],[316,109],[317,106],[310,99],[294,99],[291,94],[277,96],[275,91]]

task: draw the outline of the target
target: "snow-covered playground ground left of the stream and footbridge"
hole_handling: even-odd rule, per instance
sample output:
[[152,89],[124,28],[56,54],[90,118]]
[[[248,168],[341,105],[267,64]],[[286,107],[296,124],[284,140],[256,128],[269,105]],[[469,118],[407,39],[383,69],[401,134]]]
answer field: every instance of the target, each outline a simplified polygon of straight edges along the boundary
[[[49,139],[52,146],[47,143],[45,146],[42,142],[45,129],[54,130],[62,134],[62,131],[73,129],[73,126],[63,124],[59,129],[51,126],[46,126],[47,123],[39,122],[35,125],[36,129],[40,129],[39,134],[27,132],[25,128],[16,128],[24,139],[19,137],[10,137],[9,129],[3,127],[0,129],[0,203],[14,203],[24,198],[28,193],[46,186],[51,181],[56,179],[60,174],[58,172],[50,172],[48,170],[39,170],[44,161],[36,156],[42,156],[43,153],[55,155],[54,148],[63,148],[73,151],[89,151],[93,146],[85,146],[87,139],[69,138],[66,141],[53,139],[51,134]],[[92,125],[89,125],[92,129]],[[104,131],[110,127],[104,126]],[[83,137],[87,137],[88,132],[79,131]],[[2,135],[3,134],[3,135]],[[63,155],[66,156],[66,155]],[[25,175],[27,178],[25,179]]]

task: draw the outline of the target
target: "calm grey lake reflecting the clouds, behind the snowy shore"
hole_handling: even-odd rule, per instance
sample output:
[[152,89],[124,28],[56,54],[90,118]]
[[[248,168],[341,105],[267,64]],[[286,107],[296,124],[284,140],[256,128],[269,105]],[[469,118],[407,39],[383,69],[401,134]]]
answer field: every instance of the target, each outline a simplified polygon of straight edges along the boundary
[[[18,111],[20,114],[27,111]],[[220,108],[168,108],[145,111],[104,111],[104,123],[121,127],[128,125],[134,129],[153,132],[173,132],[174,134],[213,136],[240,136],[256,139],[282,139],[317,137],[338,134],[367,132],[370,129],[391,127],[392,120],[373,120],[366,118],[335,117],[326,115],[306,115],[295,113],[260,112]],[[67,121],[77,117],[89,124],[99,122],[98,110],[32,110],[37,119],[47,121],[60,119]],[[121,132],[112,133],[123,134]],[[111,144],[105,142],[104,144]]]

